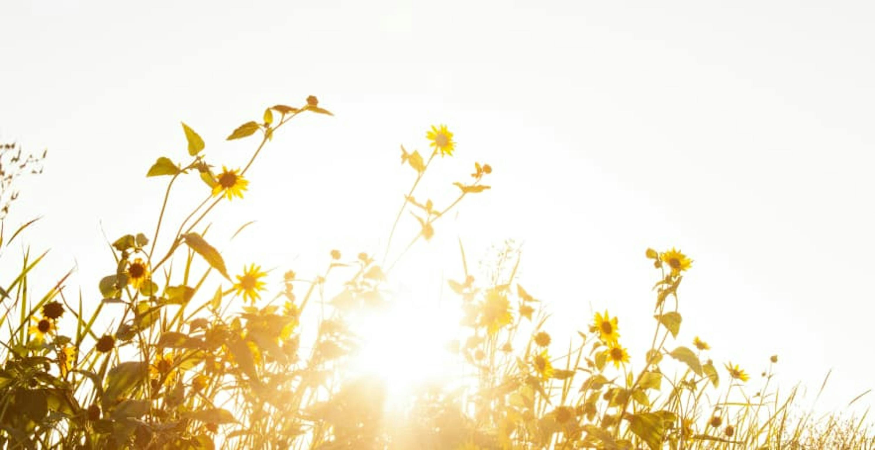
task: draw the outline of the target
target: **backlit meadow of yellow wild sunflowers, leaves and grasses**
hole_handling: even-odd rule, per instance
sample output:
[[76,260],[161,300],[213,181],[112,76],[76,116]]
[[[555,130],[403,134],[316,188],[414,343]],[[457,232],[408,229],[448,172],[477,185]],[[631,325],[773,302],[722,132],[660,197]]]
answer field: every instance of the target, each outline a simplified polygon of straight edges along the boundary
[[[353,257],[325,249],[327,267],[289,268],[270,292],[258,249],[254,260],[228,264],[210,243],[209,223],[230,219],[215,214],[217,204],[246,201],[249,168],[299,114],[331,115],[312,96],[298,107],[269,107],[227,136],[253,142],[235,163],[208,158],[205,141],[183,123],[187,152],[145,170],[165,181],[154,222],[108,243],[106,275],[95,280],[102,298],[71,297],[66,276],[31,286],[45,253],[25,251],[20,271],[4,273],[4,447],[875,447],[865,417],[800,415],[795,390],[779,395],[770,384],[778,356],[763,355],[752,370],[722,360],[699,337],[678,342],[683,280],[695,268],[674,247],[642,249],[655,284],[650,297],[641,293],[640,314],[653,317],[654,329],[649,348],[633,350],[611,305],[582,317],[570,343],[554,342],[537,288],[518,280],[518,248],[500,249],[478,272],[459,245],[458,266],[445,268],[456,274],[446,282],[460,321],[444,350],[458,377],[417,384],[390,408],[387,381],[353,368],[367,336],[351,324],[403,301],[388,288],[393,268],[440,232],[460,202],[489,195],[493,167],[463,167],[451,131],[430,127],[423,153],[401,149],[412,183],[386,248]],[[460,173],[445,183],[447,204],[417,190],[433,164]],[[174,203],[179,177],[200,177],[200,204]],[[171,210],[187,215],[167,223]],[[397,244],[403,227],[415,227],[415,237]],[[630,355],[641,358],[638,367]]]

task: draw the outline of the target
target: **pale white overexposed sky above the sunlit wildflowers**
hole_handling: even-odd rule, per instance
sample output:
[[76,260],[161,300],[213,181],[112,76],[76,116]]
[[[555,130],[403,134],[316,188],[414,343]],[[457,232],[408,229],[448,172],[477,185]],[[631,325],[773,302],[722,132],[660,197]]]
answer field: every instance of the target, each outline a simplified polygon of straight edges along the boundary
[[254,142],[231,130],[313,94],[336,117],[281,130],[245,201],[214,217],[257,220],[232,243],[215,233],[232,272],[255,260],[278,281],[332,248],[378,252],[412,181],[399,145],[424,152],[446,123],[458,156],[423,193],[445,201],[474,161],[493,190],[409,267],[460,278],[458,236],[472,259],[518,239],[556,336],[607,308],[641,353],[658,277],[644,251],[677,246],[695,260],[681,343],[702,336],[752,386],[772,354],[785,390],[832,368],[824,407],[875,387],[870,3],[46,1],[5,2],[0,22],[0,140],[49,149],[8,219],[45,216],[25,236],[52,249],[45,288],[78,263],[69,292],[96,302],[114,271],[101,230],[151,236],[165,180],[144,174],[187,160],[179,121],[239,166]]

